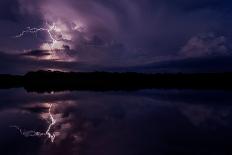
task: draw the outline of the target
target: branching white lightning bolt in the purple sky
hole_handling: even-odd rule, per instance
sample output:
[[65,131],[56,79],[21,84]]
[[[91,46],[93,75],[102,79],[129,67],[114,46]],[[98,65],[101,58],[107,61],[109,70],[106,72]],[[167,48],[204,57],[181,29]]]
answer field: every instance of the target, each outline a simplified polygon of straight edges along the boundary
[[37,34],[38,32],[44,31],[44,32],[46,32],[46,33],[48,34],[48,36],[49,36],[49,38],[50,38],[50,40],[51,40],[51,42],[52,42],[52,43],[50,44],[50,45],[51,45],[51,49],[53,49],[55,43],[59,41],[59,40],[56,39],[56,38],[53,36],[53,34],[52,34],[53,31],[56,31],[56,30],[57,30],[57,27],[56,27],[56,24],[55,24],[55,23],[53,23],[52,25],[49,25],[48,23],[46,23],[46,25],[47,25],[48,28],[43,28],[43,27],[42,27],[42,28],[31,28],[31,27],[27,27],[26,30],[23,30],[20,34],[14,36],[14,37],[15,37],[15,38],[21,38],[21,37],[23,37],[26,33]]

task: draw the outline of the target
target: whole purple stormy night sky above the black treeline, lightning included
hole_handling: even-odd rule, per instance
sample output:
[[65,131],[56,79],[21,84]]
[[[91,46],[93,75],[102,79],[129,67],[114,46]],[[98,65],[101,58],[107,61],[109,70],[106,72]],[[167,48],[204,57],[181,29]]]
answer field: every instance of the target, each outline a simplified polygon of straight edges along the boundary
[[0,73],[231,71],[231,27],[231,0],[0,0]]

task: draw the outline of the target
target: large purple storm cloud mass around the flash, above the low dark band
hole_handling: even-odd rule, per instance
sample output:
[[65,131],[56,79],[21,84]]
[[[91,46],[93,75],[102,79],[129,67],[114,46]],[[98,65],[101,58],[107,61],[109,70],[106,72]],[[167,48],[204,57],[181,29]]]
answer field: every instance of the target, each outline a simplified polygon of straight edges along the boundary
[[3,0],[0,49],[46,56],[37,49],[51,41],[47,33],[12,36],[28,26],[56,22],[62,31],[54,35],[64,49],[58,53],[62,61],[72,58],[110,68],[176,57],[226,56],[231,51],[231,4],[229,0]]

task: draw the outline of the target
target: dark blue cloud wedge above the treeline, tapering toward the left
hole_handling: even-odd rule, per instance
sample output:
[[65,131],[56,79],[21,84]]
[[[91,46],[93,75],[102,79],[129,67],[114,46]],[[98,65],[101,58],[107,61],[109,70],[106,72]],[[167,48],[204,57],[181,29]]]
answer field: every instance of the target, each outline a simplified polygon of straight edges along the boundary
[[204,56],[182,59],[176,58],[176,60],[166,60],[161,62],[149,63],[142,66],[131,67],[129,69],[130,71],[139,72],[220,73],[231,71],[231,60],[232,56]]

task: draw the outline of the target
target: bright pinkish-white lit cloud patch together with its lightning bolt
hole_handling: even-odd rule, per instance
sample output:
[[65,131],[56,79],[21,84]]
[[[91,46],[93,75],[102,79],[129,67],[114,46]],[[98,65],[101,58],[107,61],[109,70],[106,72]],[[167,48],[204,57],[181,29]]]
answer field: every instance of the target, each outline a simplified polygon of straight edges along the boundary
[[15,38],[22,38],[26,34],[38,34],[39,32],[45,32],[47,34],[47,40],[41,45],[41,50],[46,50],[49,55],[43,59],[46,60],[62,60],[72,61],[65,56],[65,46],[72,48],[72,39],[75,31],[83,32],[83,25],[78,22],[73,22],[71,26],[62,22],[61,20],[49,24],[46,22],[43,27],[27,27],[20,34],[16,35]]

